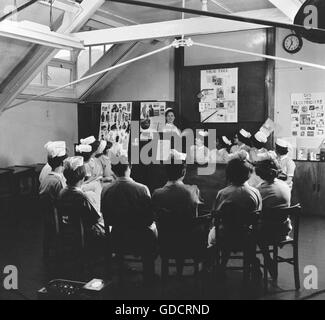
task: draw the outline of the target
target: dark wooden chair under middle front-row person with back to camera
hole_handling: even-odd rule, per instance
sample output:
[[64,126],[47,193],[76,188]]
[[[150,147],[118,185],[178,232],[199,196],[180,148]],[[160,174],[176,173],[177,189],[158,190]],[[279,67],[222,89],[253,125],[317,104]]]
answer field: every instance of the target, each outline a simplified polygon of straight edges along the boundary
[[184,266],[192,266],[194,275],[198,275],[199,264],[206,254],[211,215],[199,216],[185,224],[177,223],[175,215],[167,209],[160,208],[157,216],[162,280],[168,278],[169,267],[175,265],[178,277],[183,275]]

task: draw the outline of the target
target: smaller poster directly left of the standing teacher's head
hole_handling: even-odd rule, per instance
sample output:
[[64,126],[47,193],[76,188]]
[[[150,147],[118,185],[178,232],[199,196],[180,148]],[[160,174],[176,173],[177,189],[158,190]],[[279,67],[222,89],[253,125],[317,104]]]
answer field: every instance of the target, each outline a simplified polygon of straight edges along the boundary
[[148,140],[153,132],[162,132],[166,120],[166,102],[142,102],[140,104],[141,140]]

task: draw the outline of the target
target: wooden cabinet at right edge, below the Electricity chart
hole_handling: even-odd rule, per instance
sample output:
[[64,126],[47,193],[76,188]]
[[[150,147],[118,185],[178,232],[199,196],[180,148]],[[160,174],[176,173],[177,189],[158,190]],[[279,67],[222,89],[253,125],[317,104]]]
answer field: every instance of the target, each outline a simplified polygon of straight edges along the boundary
[[297,161],[296,166],[293,203],[305,214],[325,216],[325,163]]

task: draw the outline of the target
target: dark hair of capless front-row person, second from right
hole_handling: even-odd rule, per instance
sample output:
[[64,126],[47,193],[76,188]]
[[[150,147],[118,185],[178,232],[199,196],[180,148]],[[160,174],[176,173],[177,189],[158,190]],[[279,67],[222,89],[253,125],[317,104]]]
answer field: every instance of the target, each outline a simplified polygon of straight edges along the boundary
[[252,167],[246,160],[233,159],[229,161],[226,168],[226,176],[230,183],[241,186],[250,177]]

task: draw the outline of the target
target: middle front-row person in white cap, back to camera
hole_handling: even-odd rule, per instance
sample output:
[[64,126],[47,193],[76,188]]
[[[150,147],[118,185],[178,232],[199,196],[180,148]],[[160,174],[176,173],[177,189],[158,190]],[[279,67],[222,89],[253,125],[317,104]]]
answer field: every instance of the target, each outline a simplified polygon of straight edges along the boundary
[[[177,157],[171,157],[171,164],[166,165],[167,184],[155,190],[152,202],[156,213],[158,226],[163,226],[165,233],[159,232],[161,241],[168,251],[175,250],[177,254],[197,253],[201,255],[206,248],[207,234],[202,234],[195,225],[198,216],[200,191],[197,186],[183,183],[186,174],[184,161],[175,162]],[[159,229],[158,229],[159,231]]]

